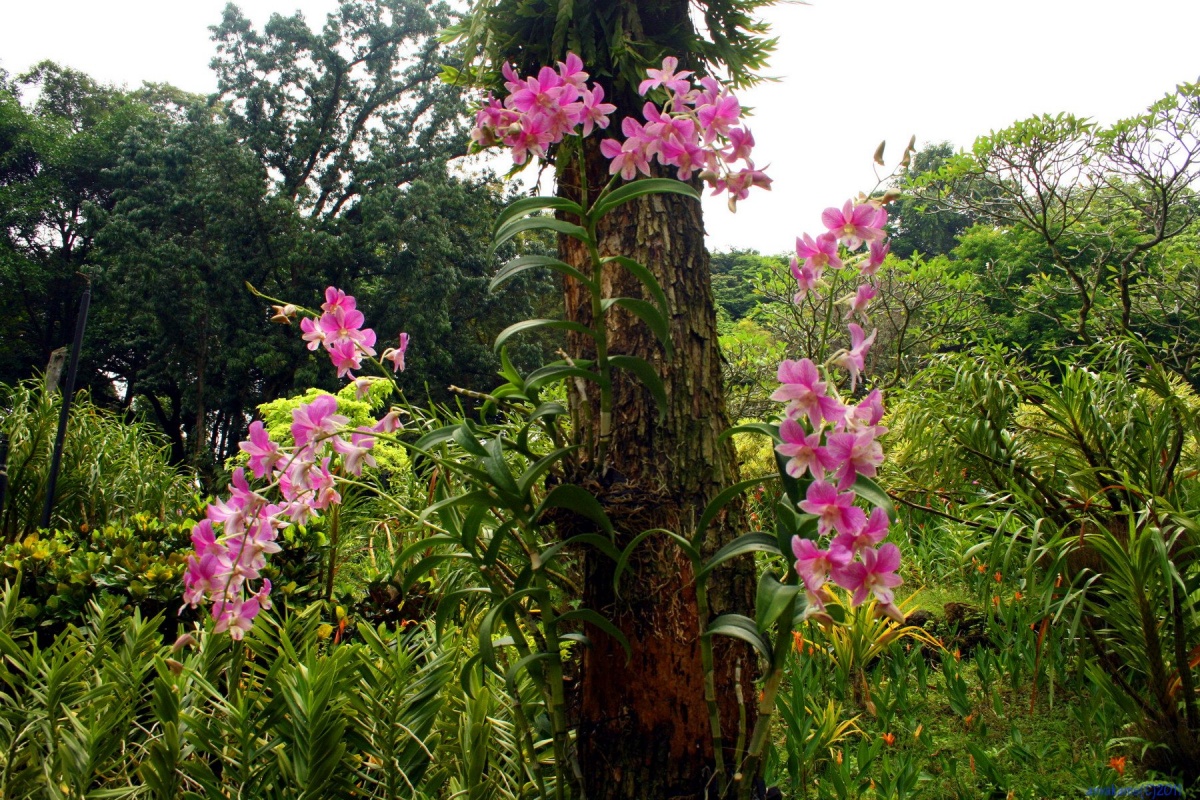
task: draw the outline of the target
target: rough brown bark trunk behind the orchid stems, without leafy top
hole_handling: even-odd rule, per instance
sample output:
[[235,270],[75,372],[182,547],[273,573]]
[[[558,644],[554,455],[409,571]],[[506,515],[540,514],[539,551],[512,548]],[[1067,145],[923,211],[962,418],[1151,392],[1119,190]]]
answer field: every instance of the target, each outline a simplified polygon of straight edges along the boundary
[[[599,139],[587,140],[590,187],[607,181],[607,160]],[[574,161],[574,160],[572,160]],[[577,162],[575,162],[577,163]],[[578,199],[577,169],[559,175],[559,194]],[[592,188],[594,196],[595,188]],[[666,386],[668,407],[660,421],[646,387],[613,371],[613,434],[607,463],[578,467],[569,480],[599,498],[618,531],[618,547],[650,528],[691,536],[708,501],[737,480],[716,341],[716,313],[704,249],[700,203],[679,196],[650,196],[610,213],[598,230],[601,255],[628,255],[655,275],[671,307],[674,359],[637,318],[614,308],[608,315],[608,351],[646,359]],[[589,273],[586,248],[563,239],[563,259]],[[646,297],[641,284],[620,267],[602,276],[606,296]],[[574,281],[564,287],[569,318],[590,324],[586,290]],[[574,336],[570,353],[593,354],[590,339]],[[596,389],[588,384],[587,402],[570,387],[574,429],[578,441],[599,437]],[[712,553],[742,530],[740,506],[730,506],[708,531]],[[613,564],[588,554],[583,604],[611,619],[628,636],[632,660],[622,646],[590,628],[592,646],[583,655],[578,758],[588,800],[716,796],[709,786],[713,769],[700,655],[701,621],[688,559],[665,537],[652,537],[613,593]],[[754,571],[748,559],[718,571],[709,582],[712,613],[752,607]],[[737,771],[732,744],[738,730],[742,678],[748,726],[754,724],[754,654],[740,642],[715,643],[716,693],[721,705],[726,765]]]

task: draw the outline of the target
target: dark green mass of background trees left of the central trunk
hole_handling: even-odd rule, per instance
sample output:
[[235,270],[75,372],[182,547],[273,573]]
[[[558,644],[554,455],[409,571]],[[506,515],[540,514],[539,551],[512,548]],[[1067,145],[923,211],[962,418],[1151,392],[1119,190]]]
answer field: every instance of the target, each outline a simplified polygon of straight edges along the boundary
[[[206,479],[238,453],[259,403],[334,389],[246,282],[356,294],[382,341],[413,337],[412,397],[445,401],[448,385],[494,373],[504,309],[545,314],[554,301],[532,276],[488,293],[503,196],[488,175],[448,172],[466,115],[434,79],[445,14],[347,0],[314,32],[299,16],[256,30],[230,6],[215,29],[214,101],[50,64],[0,86],[0,301],[17,309],[0,381],[70,341],[77,272],[95,288],[82,385],[152,419],[172,461]],[[26,88],[36,103],[20,102]],[[533,363],[542,347],[512,357]]]

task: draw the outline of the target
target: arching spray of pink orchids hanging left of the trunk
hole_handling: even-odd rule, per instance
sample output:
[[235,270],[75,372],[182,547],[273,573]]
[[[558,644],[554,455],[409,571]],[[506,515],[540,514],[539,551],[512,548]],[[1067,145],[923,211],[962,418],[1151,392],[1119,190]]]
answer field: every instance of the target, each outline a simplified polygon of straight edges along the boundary
[[[362,355],[374,354],[376,335],[361,330],[364,318],[354,297],[330,287],[325,300],[322,317],[317,321],[306,317],[300,329],[310,349],[324,344],[338,375],[344,375],[359,368]],[[289,312],[284,318],[296,313],[294,307],[282,308]],[[384,354],[397,369],[404,368],[407,345],[408,336],[402,333],[398,354]],[[348,431],[348,423],[337,414],[332,395],[320,395],[292,411],[290,446],[272,441],[260,421],[251,422],[250,438],[238,445],[248,456],[246,468],[234,470],[229,497],[210,504],[205,518],[192,529],[194,553],[184,575],[185,604],[196,608],[210,602],[215,632],[228,631],[240,639],[259,612],[271,607],[271,582],[263,571],[266,557],[281,549],[280,531],[340,504],[337,474],[358,476],[364,464],[373,467],[376,437],[401,427],[396,410],[370,427]],[[252,487],[246,469],[264,483]]]

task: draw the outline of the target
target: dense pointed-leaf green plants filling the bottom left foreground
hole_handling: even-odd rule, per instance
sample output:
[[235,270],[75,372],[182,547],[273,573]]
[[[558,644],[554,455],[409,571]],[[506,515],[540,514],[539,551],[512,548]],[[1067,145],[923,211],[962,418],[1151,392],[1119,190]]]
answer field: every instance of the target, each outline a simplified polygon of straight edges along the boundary
[[[264,615],[245,643],[197,633],[172,648],[161,618],[92,604],[80,626],[42,648],[8,588],[0,789],[6,798],[439,796],[460,770],[456,758],[431,769],[461,703],[452,643],[434,644],[420,626],[360,626],[361,642],[334,644],[314,610]],[[503,709],[494,714],[508,723]]]

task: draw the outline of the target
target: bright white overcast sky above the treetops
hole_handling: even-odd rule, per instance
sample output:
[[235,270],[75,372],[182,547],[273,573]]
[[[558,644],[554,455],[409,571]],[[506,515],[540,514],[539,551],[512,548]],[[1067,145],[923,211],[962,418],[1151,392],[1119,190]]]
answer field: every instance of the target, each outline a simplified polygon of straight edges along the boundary
[[[241,0],[262,25],[300,10],[319,26],[336,0]],[[0,67],[42,59],[104,83],[215,89],[208,26],[224,0],[0,0]],[[820,212],[874,186],[871,154],[977,136],[1040,113],[1111,122],[1200,78],[1193,0],[812,0],[767,18],[780,37],[755,107],[756,161],[772,192],[736,216],[706,201],[709,246],[762,252],[816,233]]]

